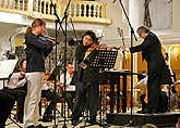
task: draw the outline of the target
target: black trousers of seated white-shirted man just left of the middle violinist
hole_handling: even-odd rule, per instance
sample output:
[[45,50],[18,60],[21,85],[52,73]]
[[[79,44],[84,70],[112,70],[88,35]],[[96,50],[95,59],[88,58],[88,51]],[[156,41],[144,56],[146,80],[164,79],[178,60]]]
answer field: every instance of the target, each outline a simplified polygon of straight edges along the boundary
[[73,112],[73,100],[75,99],[75,91],[65,91],[64,93],[68,107]]

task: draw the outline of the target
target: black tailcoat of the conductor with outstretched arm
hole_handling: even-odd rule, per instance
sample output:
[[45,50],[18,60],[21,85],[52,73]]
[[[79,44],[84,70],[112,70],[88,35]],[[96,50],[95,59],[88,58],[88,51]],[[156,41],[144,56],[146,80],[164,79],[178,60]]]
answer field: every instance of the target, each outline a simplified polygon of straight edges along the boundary
[[161,54],[161,43],[155,34],[149,33],[141,44],[130,48],[132,53],[140,51],[143,60],[147,62],[148,73],[156,73],[161,79],[169,74]]

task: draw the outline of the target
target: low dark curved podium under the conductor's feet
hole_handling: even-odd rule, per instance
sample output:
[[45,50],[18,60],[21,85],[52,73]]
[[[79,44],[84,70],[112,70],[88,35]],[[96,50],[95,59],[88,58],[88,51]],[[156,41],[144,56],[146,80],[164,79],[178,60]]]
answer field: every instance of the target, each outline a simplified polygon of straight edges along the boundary
[[133,113],[109,113],[107,114],[107,123],[117,126],[124,126],[130,123],[131,118],[134,125],[143,126],[145,124],[154,124],[157,127],[175,126],[180,117],[180,112],[160,113],[160,114],[136,114]]

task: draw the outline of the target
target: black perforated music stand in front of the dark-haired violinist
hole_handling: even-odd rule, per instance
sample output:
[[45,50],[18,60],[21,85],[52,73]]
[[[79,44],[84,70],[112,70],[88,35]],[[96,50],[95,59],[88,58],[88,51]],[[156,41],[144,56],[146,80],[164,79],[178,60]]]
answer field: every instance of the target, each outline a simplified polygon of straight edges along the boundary
[[[113,68],[116,60],[117,60],[118,51],[107,51],[107,50],[94,50],[84,60],[84,63],[87,66],[91,67],[98,67],[99,71],[103,68]],[[88,89],[88,88],[87,88]],[[88,94],[87,94],[88,97]],[[88,100],[88,98],[87,98]],[[88,103],[88,101],[87,101]],[[86,121],[88,120],[88,115],[86,115]],[[84,127],[86,125],[86,121],[84,124]],[[105,124],[101,123],[101,86],[100,86],[100,123],[98,124],[100,127],[108,127]]]

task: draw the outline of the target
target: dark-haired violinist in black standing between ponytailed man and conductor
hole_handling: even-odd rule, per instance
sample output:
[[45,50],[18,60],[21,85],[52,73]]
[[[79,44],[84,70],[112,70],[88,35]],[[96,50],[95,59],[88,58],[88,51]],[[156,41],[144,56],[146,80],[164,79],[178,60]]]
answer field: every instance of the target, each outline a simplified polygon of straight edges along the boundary
[[[82,46],[79,46],[75,51],[75,57],[77,64],[82,63],[85,57],[85,54],[94,46],[96,36],[93,31],[88,30],[84,34],[82,39]],[[75,86],[75,101],[72,113],[72,125],[76,125],[79,118],[84,108],[84,102],[87,98],[87,105],[89,108],[89,123],[97,124],[96,114],[97,114],[97,101],[98,101],[98,68],[87,66],[86,68],[77,67],[77,81]],[[88,91],[88,92],[87,92]]]

